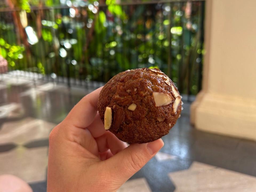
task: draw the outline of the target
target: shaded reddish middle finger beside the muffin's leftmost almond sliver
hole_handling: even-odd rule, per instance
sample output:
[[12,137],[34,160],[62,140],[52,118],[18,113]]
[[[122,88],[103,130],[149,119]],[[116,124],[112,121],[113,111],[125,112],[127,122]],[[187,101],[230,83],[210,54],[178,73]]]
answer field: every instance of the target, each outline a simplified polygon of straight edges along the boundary
[[93,137],[100,137],[105,134],[107,131],[104,129],[104,125],[99,117],[99,113],[96,114],[91,125],[87,127],[87,129],[91,132]]

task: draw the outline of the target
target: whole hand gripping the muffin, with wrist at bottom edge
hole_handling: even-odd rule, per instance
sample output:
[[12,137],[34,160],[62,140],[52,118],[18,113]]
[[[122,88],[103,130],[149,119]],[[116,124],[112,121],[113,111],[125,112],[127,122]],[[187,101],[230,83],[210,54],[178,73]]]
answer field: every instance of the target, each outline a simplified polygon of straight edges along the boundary
[[99,88],[74,106],[51,131],[47,191],[116,191],[163,146],[162,139],[127,147],[104,129]]

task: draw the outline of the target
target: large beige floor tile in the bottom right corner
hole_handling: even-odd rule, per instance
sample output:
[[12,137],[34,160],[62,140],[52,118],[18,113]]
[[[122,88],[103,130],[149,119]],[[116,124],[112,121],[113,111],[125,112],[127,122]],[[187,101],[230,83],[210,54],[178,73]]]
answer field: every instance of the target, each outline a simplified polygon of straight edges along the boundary
[[254,192],[256,177],[193,162],[187,170],[169,173],[175,192]]

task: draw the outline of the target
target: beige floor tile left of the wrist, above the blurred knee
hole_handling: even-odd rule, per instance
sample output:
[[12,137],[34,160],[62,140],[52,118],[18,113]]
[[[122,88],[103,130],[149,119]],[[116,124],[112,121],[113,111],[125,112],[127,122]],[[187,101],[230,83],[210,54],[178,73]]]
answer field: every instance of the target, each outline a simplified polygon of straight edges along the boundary
[[45,181],[48,147],[19,146],[0,153],[0,175],[12,174],[26,182]]

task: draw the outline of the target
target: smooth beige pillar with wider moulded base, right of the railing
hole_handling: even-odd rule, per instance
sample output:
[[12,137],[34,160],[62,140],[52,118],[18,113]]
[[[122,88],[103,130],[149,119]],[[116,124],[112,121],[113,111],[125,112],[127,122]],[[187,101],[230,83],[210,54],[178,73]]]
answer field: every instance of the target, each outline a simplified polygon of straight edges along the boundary
[[199,130],[256,140],[256,1],[206,0]]

